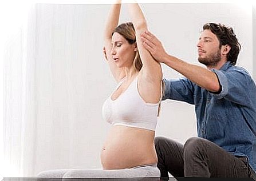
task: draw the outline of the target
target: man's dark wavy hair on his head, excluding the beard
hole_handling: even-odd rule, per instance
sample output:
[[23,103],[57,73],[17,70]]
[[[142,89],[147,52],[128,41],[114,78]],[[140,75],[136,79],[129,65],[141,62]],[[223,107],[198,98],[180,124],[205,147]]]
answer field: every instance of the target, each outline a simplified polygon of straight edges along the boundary
[[227,54],[227,61],[230,61],[232,65],[235,65],[237,63],[239,51],[241,50],[241,45],[234,34],[233,28],[222,24],[206,23],[203,25],[203,30],[210,30],[214,33],[219,39],[220,47],[222,45],[229,45],[231,47]]

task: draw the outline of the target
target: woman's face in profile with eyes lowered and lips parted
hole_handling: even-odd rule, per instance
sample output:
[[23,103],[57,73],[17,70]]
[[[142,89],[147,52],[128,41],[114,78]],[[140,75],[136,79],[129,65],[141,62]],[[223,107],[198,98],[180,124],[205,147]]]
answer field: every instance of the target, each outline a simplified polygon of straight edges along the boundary
[[131,67],[137,51],[136,43],[132,45],[119,33],[112,36],[112,59],[117,67]]

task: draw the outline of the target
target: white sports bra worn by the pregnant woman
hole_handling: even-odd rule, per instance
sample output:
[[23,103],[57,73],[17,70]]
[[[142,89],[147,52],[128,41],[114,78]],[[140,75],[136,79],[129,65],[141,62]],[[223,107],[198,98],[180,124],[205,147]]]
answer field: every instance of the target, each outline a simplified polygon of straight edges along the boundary
[[[116,90],[125,78],[119,82]],[[146,103],[141,98],[137,89],[137,79],[138,77],[117,99],[112,100],[109,96],[103,104],[103,118],[113,126],[123,125],[155,131],[159,103]]]

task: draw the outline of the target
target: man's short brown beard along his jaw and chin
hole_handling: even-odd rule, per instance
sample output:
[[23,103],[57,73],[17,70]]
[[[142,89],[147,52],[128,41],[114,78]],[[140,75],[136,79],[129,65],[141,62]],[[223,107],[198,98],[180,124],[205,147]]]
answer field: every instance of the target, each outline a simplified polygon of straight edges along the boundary
[[215,67],[220,61],[220,49],[204,58],[198,57],[198,61],[207,67]]

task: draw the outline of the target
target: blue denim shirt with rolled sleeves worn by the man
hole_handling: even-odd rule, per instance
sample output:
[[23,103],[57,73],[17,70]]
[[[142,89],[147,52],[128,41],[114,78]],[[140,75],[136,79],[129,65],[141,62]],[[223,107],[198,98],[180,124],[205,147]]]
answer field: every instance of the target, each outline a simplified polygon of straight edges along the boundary
[[222,86],[214,94],[187,78],[164,79],[165,99],[195,105],[198,136],[218,144],[227,152],[247,156],[256,171],[256,86],[242,67],[226,62],[212,69]]

